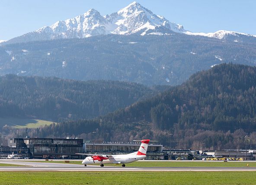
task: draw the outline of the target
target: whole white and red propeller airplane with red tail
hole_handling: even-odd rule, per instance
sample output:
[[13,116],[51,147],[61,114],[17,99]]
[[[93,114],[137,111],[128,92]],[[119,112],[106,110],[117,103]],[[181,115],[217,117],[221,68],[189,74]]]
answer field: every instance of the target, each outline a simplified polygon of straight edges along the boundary
[[[138,141],[138,140],[134,140]],[[119,154],[119,155],[104,155],[104,154],[80,154],[79,155],[88,155],[82,164],[86,167],[87,164],[97,164],[100,163],[100,167],[104,167],[104,164],[122,164],[122,167],[125,167],[125,163],[132,163],[136,160],[141,160],[146,158],[147,146],[150,142],[149,139],[143,139],[140,141],[141,146],[138,151],[135,151],[131,154]]]

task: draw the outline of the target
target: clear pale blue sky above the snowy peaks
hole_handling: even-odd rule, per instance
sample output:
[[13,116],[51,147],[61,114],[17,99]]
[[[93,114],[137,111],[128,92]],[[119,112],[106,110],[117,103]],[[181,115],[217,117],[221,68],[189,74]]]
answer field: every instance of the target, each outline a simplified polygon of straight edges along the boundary
[[[117,12],[133,0],[0,0],[0,40],[35,31],[94,8]],[[170,22],[193,32],[218,30],[256,35],[256,0],[137,0]]]

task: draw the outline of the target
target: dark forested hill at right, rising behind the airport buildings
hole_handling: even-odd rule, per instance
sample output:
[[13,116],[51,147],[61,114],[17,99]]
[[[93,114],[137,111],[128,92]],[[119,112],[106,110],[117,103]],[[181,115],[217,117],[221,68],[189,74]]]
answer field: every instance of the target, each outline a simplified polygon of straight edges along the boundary
[[240,149],[245,142],[256,145],[255,105],[256,67],[222,64],[106,116],[54,124],[30,134],[92,139],[95,131],[98,141],[150,138],[167,146],[171,140],[172,148]]

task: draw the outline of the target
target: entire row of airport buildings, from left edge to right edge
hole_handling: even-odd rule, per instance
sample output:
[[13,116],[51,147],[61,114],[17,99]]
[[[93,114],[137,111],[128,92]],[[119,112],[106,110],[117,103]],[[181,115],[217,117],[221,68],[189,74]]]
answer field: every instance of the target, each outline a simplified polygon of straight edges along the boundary
[[[35,159],[83,159],[87,154],[129,154],[138,151],[140,142],[103,142],[91,143],[83,139],[52,138],[13,138],[8,146],[1,146],[0,156],[18,154]],[[243,160],[256,160],[255,150],[206,151],[200,154],[197,150],[163,150],[163,145],[149,144],[149,160],[201,160],[203,157],[234,157]]]

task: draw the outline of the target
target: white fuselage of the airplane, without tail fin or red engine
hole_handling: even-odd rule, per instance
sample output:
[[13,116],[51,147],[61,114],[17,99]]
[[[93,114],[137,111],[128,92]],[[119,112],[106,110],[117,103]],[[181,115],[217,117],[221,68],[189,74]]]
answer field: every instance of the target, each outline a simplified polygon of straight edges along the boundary
[[[114,164],[124,164],[124,163],[132,163],[136,160],[145,159],[146,155],[134,155],[134,154],[121,154],[121,155],[106,155],[109,159],[104,159],[102,163],[114,163]],[[99,164],[99,160],[93,160],[93,157],[86,157],[82,164]]]

